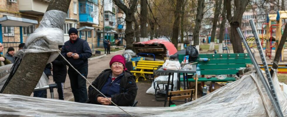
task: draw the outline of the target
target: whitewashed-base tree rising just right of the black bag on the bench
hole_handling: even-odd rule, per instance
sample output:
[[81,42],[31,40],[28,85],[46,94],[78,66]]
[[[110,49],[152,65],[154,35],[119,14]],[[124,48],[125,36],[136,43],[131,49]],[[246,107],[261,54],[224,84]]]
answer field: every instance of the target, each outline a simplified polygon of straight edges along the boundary
[[193,44],[196,46],[196,48],[199,50],[199,31],[201,28],[201,21],[203,19],[204,14],[204,1],[205,0],[197,0],[197,13],[196,13],[196,20],[195,20],[195,27],[193,30]]

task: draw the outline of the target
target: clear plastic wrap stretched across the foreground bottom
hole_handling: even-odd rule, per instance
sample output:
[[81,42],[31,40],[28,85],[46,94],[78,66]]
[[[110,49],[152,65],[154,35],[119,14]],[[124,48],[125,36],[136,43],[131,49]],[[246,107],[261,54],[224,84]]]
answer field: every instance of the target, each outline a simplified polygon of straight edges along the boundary
[[[284,116],[287,116],[286,94],[280,90],[276,74],[274,74],[273,79],[282,113]],[[58,99],[44,99],[11,94],[0,94],[0,100],[0,116],[129,116],[116,106],[84,104]],[[175,107],[122,107],[122,109],[137,117],[276,116],[274,107],[255,71],[189,103]]]

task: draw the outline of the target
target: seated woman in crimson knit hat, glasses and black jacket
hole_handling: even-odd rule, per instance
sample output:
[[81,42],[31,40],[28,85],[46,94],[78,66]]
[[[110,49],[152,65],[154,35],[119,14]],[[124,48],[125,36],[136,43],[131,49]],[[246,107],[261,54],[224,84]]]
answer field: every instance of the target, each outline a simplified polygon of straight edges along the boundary
[[[109,63],[111,69],[104,70],[92,83],[118,106],[132,106],[138,90],[133,73],[126,70],[125,64],[123,56],[114,56]],[[113,105],[92,86],[89,86],[88,97],[90,104]]]

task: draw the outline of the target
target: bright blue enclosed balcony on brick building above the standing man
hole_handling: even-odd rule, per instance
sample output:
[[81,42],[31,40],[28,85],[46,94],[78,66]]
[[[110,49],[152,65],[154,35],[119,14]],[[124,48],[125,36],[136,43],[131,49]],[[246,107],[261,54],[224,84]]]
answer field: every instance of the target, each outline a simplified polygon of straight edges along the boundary
[[94,24],[93,18],[91,16],[91,13],[93,11],[93,3],[85,0],[79,1],[80,4],[80,13],[79,13],[79,18],[80,18],[80,23],[82,24]]

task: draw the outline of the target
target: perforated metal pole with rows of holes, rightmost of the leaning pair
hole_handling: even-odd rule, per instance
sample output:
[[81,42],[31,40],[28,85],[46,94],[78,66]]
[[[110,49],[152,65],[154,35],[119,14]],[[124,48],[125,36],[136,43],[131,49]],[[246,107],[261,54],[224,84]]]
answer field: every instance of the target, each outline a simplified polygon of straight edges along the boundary
[[[263,53],[263,49],[261,47],[261,43],[259,41],[259,37],[258,37],[258,33],[256,31],[256,27],[255,27],[254,21],[253,20],[249,20],[249,22],[250,22],[250,25],[251,25],[251,29],[252,29],[253,35],[255,37],[255,41],[256,41],[256,44],[257,44],[257,48],[259,50],[261,61],[263,63],[264,69],[265,69],[265,73],[266,73],[266,76],[267,76],[267,79],[268,79],[268,82],[269,82],[269,86],[270,86],[270,89],[271,89],[271,92],[272,92],[272,96],[274,98],[274,101],[276,102],[276,105],[278,106],[277,108],[275,108],[276,109],[276,113],[277,113],[277,115],[280,115],[280,114],[282,114],[282,112],[281,112],[280,104],[278,103],[279,99],[277,97],[277,93],[276,93],[276,91],[274,89],[274,86],[273,86],[273,81],[272,81],[272,78],[271,78],[271,74],[270,74],[270,71],[269,71],[269,68],[268,68],[268,65],[267,65],[267,62],[266,62],[266,58],[265,58],[264,53]],[[282,114],[282,116],[283,116],[283,114]]]

